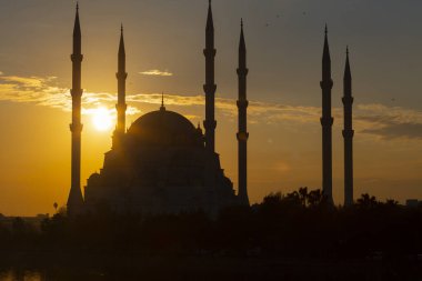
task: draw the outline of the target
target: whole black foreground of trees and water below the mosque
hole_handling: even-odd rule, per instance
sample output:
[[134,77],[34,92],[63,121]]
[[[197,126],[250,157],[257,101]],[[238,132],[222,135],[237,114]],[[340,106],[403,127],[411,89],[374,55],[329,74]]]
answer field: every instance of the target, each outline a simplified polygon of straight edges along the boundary
[[59,211],[38,229],[17,218],[0,221],[0,272],[8,281],[422,281],[422,204],[364,194],[336,208],[300,189],[217,217],[98,205],[77,218]]

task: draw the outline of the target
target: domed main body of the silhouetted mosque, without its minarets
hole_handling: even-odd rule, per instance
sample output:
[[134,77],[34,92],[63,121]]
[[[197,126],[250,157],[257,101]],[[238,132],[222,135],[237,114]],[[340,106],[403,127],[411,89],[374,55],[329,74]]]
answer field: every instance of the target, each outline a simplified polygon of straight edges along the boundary
[[115,211],[214,213],[235,200],[219,155],[204,148],[202,130],[164,107],[132,123],[86,187],[90,209],[107,203]]

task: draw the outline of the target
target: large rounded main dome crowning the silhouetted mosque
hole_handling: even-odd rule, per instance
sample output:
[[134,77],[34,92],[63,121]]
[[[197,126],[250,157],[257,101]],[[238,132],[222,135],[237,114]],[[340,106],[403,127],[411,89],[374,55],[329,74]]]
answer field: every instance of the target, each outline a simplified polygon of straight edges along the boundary
[[137,119],[128,140],[147,145],[199,145],[202,133],[183,116],[160,109]]

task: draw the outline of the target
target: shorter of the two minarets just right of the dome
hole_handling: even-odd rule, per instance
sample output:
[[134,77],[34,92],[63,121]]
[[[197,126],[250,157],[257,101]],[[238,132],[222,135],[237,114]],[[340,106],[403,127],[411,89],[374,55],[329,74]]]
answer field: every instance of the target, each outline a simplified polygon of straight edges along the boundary
[[238,161],[239,161],[239,199],[241,204],[249,205],[248,197],[248,129],[247,129],[247,46],[243,36],[243,20],[241,21],[240,42],[239,42],[239,131],[238,131]]

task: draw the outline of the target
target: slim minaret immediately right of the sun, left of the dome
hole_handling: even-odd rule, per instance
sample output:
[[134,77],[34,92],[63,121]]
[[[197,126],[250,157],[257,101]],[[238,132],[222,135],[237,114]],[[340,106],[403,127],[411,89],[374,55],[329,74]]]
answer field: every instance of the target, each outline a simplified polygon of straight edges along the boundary
[[123,24],[120,31],[120,44],[118,54],[118,72],[115,78],[118,79],[118,104],[115,109],[118,111],[118,124],[115,127],[113,136],[113,148],[118,148],[121,143],[122,137],[125,132],[125,110],[128,106],[125,104],[125,79],[128,73],[125,72],[125,51],[124,51],[124,40],[123,40]]

